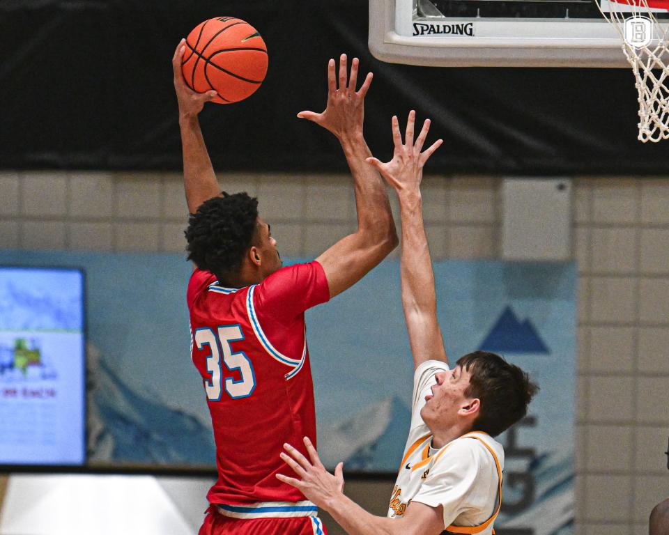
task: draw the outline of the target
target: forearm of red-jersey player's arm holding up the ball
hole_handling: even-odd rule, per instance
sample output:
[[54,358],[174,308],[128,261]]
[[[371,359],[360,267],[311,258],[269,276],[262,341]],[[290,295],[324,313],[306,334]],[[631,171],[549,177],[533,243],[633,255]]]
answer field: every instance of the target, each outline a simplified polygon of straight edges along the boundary
[[183,150],[183,184],[190,213],[220,194],[207,146],[204,143],[197,116],[179,116],[181,146]]

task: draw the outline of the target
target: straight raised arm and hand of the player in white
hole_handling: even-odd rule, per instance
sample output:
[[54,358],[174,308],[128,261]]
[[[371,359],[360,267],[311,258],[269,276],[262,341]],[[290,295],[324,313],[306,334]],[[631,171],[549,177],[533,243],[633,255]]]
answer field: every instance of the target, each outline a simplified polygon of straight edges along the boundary
[[392,160],[381,163],[376,158],[370,162],[397,192],[402,222],[402,252],[400,276],[402,286],[402,308],[414,365],[426,360],[447,362],[441,329],[437,320],[437,299],[434,289],[434,272],[430,250],[423,224],[420,181],[423,166],[431,154],[440,146],[439,139],[423,153],[423,144],[429,131],[427,119],[415,143],[415,111],[410,111],[406,124],[406,135],[402,144],[397,116],[392,118],[394,153]]

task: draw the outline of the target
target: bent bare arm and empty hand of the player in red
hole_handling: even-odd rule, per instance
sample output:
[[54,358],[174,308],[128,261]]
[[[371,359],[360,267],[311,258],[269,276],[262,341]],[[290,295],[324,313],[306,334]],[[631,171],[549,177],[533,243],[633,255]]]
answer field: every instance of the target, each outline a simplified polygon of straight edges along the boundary
[[358,64],[359,61],[354,58],[347,84],[346,54],[341,55],[337,88],[334,59],[331,59],[328,62],[328,104],[325,111],[321,114],[301,111],[298,114],[300,118],[321,125],[339,139],[355,183],[357,231],[316,258],[328,279],[330,297],[353,286],[397,247],[397,233],[385,185],[376,169],[366,161],[371,153],[364,141],[362,124],[364,97],[372,75],[370,72],[360,90],[355,91]]

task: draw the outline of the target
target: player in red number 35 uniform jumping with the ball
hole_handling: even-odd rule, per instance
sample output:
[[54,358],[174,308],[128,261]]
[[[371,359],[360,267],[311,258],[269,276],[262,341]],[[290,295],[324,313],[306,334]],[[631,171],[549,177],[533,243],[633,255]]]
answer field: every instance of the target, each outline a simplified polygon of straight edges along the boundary
[[214,93],[193,93],[173,58],[179,104],[189,258],[192,359],[201,373],[216,443],[218,479],[201,535],[323,534],[316,506],[277,480],[284,442],[316,440],[304,312],[355,284],[397,245],[383,180],[365,162],[362,136],[367,75],[355,91],[357,59],[328,63],[328,104],[298,116],[339,139],[355,182],[358,228],[316,261],[281,267],[270,226],[247,194],[221,193],[198,114]]

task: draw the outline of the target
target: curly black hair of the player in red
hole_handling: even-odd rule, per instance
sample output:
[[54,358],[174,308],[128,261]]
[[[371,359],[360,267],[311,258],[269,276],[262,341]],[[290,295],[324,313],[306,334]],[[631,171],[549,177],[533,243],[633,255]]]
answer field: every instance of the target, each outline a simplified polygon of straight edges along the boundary
[[246,192],[221,194],[204,201],[188,217],[185,230],[188,260],[219,279],[241,267],[245,252],[253,244],[258,219],[256,197]]

